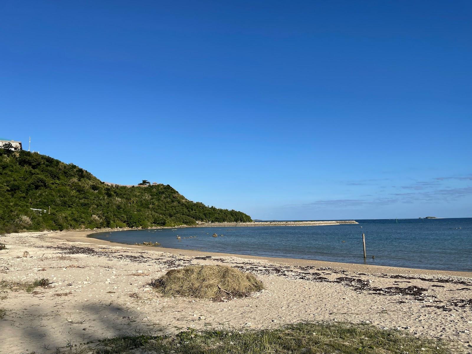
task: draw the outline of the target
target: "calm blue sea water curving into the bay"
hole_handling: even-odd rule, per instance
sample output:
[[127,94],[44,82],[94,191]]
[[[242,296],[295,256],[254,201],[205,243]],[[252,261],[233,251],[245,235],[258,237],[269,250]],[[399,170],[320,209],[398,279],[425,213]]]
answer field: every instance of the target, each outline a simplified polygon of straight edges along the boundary
[[[356,221],[359,224],[130,230],[93,237],[125,244],[152,241],[207,252],[472,271],[472,218]],[[212,237],[213,233],[224,236]],[[196,237],[184,238],[188,236]]]

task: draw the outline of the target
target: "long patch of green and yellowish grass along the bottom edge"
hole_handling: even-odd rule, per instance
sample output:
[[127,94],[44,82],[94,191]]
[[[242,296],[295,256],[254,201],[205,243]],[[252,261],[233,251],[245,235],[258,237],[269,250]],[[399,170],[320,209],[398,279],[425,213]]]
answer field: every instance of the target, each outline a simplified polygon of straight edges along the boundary
[[444,342],[396,330],[351,323],[297,323],[265,330],[188,329],[175,336],[104,339],[96,346],[74,348],[76,354],[447,354]]

